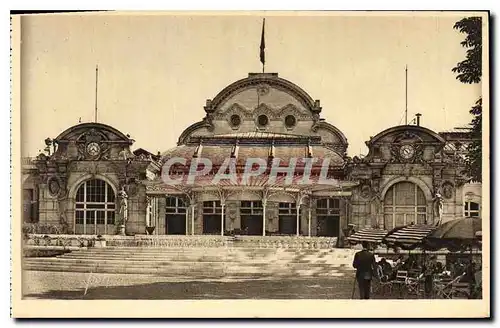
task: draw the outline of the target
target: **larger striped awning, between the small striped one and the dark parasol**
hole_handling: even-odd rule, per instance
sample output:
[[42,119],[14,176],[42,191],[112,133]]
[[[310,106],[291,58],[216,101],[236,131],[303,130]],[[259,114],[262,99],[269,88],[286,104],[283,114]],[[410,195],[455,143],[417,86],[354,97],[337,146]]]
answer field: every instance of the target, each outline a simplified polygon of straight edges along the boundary
[[387,246],[411,249],[421,245],[423,239],[435,229],[431,225],[407,225],[391,230],[383,242]]

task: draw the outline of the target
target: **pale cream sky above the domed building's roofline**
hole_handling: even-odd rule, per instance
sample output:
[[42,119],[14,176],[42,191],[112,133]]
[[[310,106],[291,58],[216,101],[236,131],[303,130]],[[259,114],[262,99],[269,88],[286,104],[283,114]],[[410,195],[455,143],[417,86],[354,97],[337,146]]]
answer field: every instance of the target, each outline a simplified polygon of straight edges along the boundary
[[339,128],[348,154],[366,154],[370,136],[408,117],[434,131],[466,126],[480,84],[451,69],[465,58],[462,15],[408,16],[292,12],[194,15],[36,15],[21,22],[22,156],[36,156],[47,137],[94,121],[153,153],[176,146],[182,131],[232,82],[262,70],[259,45],[266,17],[266,72],[277,72],[319,99],[321,117]]

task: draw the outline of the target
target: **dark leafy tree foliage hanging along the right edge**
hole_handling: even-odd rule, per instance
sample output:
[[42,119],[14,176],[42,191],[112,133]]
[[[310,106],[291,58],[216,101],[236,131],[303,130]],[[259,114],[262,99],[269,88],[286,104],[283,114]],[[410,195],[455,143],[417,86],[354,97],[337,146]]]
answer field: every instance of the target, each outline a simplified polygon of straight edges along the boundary
[[[460,44],[467,48],[466,58],[452,69],[462,83],[480,83],[482,77],[482,20],[481,17],[467,17],[458,21],[454,29],[466,34]],[[473,115],[470,125],[472,142],[467,147],[465,159],[467,174],[473,181],[481,181],[482,170],[482,98],[469,111]]]

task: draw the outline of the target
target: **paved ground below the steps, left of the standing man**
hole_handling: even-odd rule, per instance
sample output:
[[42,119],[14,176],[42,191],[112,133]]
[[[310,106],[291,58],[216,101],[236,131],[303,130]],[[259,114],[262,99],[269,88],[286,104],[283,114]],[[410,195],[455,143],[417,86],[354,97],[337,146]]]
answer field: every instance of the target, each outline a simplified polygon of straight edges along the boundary
[[25,299],[349,299],[353,276],[183,280],[134,274],[90,276],[24,271],[23,286]]

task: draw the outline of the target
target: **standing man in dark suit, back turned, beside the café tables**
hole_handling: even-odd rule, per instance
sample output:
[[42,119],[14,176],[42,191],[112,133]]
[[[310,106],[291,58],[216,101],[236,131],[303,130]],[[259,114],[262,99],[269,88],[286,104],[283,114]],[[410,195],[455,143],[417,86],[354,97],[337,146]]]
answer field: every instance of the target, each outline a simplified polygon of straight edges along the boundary
[[376,274],[375,255],[368,250],[368,242],[362,243],[363,250],[354,255],[352,266],[356,269],[356,280],[359,286],[359,298],[369,299],[373,276]]

